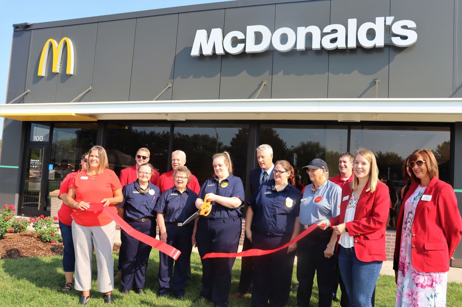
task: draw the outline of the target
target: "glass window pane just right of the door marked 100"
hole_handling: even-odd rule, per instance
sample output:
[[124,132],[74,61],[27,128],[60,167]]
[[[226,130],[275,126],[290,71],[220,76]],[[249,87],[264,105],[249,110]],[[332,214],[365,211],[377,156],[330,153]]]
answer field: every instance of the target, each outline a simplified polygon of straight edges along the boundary
[[59,189],[67,174],[79,170],[82,154],[96,143],[96,133],[96,123],[54,124],[48,172],[49,192]]

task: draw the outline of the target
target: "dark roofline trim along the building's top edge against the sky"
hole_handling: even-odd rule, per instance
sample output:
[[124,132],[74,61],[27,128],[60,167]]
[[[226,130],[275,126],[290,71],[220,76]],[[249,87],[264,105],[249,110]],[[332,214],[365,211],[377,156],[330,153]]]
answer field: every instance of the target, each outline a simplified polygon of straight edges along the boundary
[[[234,8],[234,7],[258,6],[258,5],[277,4],[277,3],[306,2],[306,1],[314,1],[314,0],[234,0],[234,1],[195,4],[195,5],[189,5],[189,6],[174,6],[174,7],[166,7],[166,8],[160,8],[160,9],[154,9],[154,10],[126,12],[126,13],[75,18],[75,19],[67,19],[67,20],[49,21],[49,22],[36,23],[36,24],[29,24],[29,23],[13,24],[12,26],[13,26],[13,31],[23,31],[23,30],[43,29],[43,28],[52,28],[52,27],[62,27],[62,26],[69,26],[69,25],[74,25],[74,24],[91,24],[91,23],[98,23],[98,22],[105,22],[105,21],[112,21],[112,20],[141,18],[141,17],[178,14],[178,13],[187,13],[187,12],[209,11],[209,10],[218,10],[218,9],[226,9],[226,8]],[[326,1],[329,1],[329,0],[326,0]]]

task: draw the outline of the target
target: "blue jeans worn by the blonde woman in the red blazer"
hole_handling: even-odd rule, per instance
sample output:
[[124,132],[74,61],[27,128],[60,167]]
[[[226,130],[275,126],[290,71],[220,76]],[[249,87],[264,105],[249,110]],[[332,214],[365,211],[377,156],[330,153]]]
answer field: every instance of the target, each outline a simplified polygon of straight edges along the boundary
[[364,262],[356,258],[353,248],[339,245],[340,275],[345,283],[350,307],[371,307],[372,292],[383,261]]

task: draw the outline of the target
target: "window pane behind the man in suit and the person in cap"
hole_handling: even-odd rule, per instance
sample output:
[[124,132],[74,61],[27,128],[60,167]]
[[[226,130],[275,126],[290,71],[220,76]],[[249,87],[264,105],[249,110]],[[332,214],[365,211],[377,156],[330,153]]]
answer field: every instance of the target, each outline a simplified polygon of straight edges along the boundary
[[262,124],[258,144],[273,148],[274,162],[285,159],[292,163],[306,185],[310,177],[302,167],[312,159],[327,162],[329,177],[339,174],[338,158],[346,152],[347,135],[347,126]]

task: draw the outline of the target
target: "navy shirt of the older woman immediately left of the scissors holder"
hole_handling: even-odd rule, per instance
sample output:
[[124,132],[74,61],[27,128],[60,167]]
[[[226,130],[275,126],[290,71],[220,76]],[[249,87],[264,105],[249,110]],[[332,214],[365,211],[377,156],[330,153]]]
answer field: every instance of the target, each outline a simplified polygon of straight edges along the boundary
[[188,187],[183,193],[173,187],[162,193],[154,211],[164,214],[165,223],[182,223],[197,211],[196,199],[197,194]]

